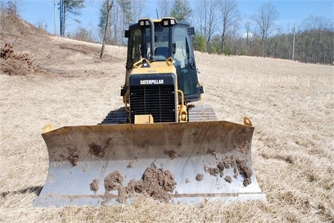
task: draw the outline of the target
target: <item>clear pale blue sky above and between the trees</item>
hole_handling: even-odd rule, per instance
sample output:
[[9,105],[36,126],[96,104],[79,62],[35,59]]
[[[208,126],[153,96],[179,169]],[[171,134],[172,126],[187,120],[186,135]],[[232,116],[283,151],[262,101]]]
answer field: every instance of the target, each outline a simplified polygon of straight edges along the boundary
[[[1,3],[6,3],[6,1],[0,0]],[[36,26],[43,24],[43,26],[47,27],[47,31],[54,33],[54,0],[17,0],[17,2],[19,4],[19,15],[22,19]],[[56,0],[57,2],[58,0]],[[147,2],[146,6],[148,7],[143,11],[143,17],[156,18],[156,1],[146,0],[145,2]],[[256,13],[269,0],[239,0],[237,2],[241,17],[246,18]],[[272,0],[270,2],[273,3],[279,13],[277,23],[283,29],[292,28],[294,24],[298,26],[303,19],[311,15],[315,17],[324,16],[334,21],[334,0]],[[69,21],[67,31],[75,31],[79,27],[87,28],[88,30],[96,29],[99,23],[101,3],[102,0],[85,0],[86,7],[81,10],[82,15],[76,17],[81,21],[81,24]],[[189,3],[194,4],[196,0],[189,0]],[[57,30],[59,28],[58,24],[58,6],[56,6]]]

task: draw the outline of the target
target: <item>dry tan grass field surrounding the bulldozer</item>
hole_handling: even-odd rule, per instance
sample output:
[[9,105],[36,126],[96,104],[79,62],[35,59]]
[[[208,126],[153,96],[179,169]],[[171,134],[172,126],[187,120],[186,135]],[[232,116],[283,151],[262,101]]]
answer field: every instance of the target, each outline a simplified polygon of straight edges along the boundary
[[120,206],[36,208],[48,168],[42,128],[97,124],[122,106],[126,50],[108,46],[100,59],[97,44],[0,35],[0,47],[6,42],[32,64],[0,58],[0,222],[334,222],[333,66],[196,53],[200,103],[218,119],[247,116],[255,126],[253,165],[267,202],[176,205],[140,196]]

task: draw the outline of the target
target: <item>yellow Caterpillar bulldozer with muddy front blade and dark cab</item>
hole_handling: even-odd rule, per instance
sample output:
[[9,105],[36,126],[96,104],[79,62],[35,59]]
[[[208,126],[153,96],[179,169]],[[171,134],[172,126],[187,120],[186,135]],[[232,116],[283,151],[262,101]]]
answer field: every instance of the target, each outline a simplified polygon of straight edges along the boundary
[[102,206],[147,195],[168,203],[265,200],[251,160],[254,127],[196,106],[204,93],[191,35],[171,17],[128,38],[124,108],[94,126],[45,126],[49,170],[34,206]]

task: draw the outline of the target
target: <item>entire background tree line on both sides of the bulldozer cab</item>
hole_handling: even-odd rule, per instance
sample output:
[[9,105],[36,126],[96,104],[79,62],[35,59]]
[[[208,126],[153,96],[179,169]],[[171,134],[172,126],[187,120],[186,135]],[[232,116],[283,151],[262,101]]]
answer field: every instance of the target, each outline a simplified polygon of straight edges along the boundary
[[[124,31],[130,24],[147,17],[144,0],[95,1],[100,22],[95,33],[78,28],[66,33],[67,22],[81,15],[85,0],[56,0],[60,15],[60,34],[88,42],[124,46]],[[86,0],[93,1],[93,0]],[[8,0],[13,8],[15,0]],[[224,55],[263,56],[299,60],[303,63],[333,65],[333,18],[310,15],[299,24],[279,26],[279,13],[268,1],[249,17],[239,13],[237,0],[157,0],[157,17],[186,20],[196,28],[193,36],[197,51]],[[285,31],[283,31],[285,28]]]

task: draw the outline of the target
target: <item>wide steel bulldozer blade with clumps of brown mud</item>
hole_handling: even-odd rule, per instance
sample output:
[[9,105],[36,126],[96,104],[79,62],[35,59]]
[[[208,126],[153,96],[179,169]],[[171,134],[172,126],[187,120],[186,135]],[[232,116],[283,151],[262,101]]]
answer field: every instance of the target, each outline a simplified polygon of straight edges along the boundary
[[255,179],[254,128],[232,122],[67,126],[43,133],[49,172],[34,206],[265,200]]

